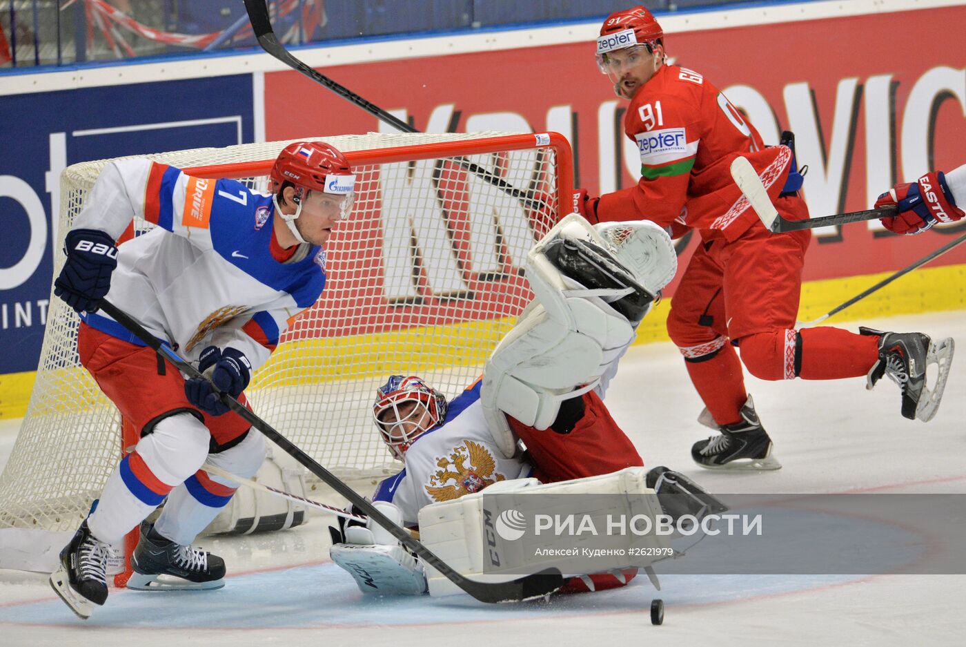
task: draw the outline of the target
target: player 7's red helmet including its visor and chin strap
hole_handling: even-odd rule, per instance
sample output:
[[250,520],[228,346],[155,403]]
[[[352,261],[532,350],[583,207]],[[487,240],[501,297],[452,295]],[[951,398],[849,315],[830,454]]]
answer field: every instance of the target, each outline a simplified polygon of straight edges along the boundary
[[[286,182],[296,188],[293,202],[295,214],[284,214],[278,206],[278,196]],[[278,154],[271,166],[269,191],[275,211],[288,225],[299,243],[305,243],[296,228],[301,214],[302,202],[308,191],[321,191],[341,198],[339,220],[349,218],[355,199],[355,174],[346,157],[324,141],[297,141],[289,144]]]

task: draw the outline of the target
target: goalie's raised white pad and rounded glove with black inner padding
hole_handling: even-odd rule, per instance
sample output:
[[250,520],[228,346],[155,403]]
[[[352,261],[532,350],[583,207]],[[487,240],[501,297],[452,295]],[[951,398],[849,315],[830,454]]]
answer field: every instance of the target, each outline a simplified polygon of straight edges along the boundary
[[517,444],[506,416],[546,429],[563,400],[606,389],[676,271],[667,232],[650,221],[591,226],[571,214],[530,250],[526,278],[536,299],[483,372],[483,411],[504,456]]

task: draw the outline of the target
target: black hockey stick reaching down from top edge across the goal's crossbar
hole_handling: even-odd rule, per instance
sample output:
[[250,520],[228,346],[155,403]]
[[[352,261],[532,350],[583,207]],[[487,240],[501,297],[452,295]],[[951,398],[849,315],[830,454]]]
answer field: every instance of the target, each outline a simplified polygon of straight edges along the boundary
[[[264,49],[271,56],[298,73],[308,76],[316,83],[319,83],[324,88],[331,90],[346,101],[355,103],[355,105],[359,106],[369,114],[378,117],[396,130],[401,132],[419,132],[395,115],[386,112],[383,108],[379,107],[375,103],[366,101],[362,97],[359,97],[349,88],[336,83],[325,74],[316,72],[309,66],[299,61],[298,58],[293,56],[283,44],[279,43],[278,38],[275,37],[275,32],[271,28],[269,6],[266,0],[244,0],[244,8],[245,11],[248,12],[248,19],[251,21],[251,27],[255,32],[255,38],[258,39],[258,44],[262,45],[262,49]],[[497,189],[506,192],[507,195],[521,200],[528,209],[539,210],[549,206],[543,200],[535,198],[532,191],[521,191],[520,189],[517,189],[506,180],[497,177],[477,163],[467,162],[462,158],[454,158],[454,160],[456,163],[460,164],[470,173],[473,173],[480,179],[490,183],[494,187],[497,187]]]

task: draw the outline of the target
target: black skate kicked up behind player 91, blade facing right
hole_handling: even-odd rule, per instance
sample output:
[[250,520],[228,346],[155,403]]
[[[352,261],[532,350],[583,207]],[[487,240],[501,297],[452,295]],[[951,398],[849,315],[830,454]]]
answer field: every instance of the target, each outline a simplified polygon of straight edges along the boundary
[[[862,335],[879,336],[879,359],[868,371],[866,388],[871,390],[885,375],[902,391],[902,416],[923,423],[932,420],[950,376],[952,338],[933,341],[923,333],[885,333],[861,327]],[[927,384],[925,371],[936,367],[935,383]]]

